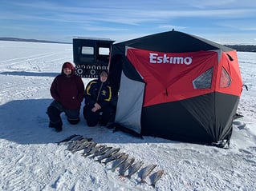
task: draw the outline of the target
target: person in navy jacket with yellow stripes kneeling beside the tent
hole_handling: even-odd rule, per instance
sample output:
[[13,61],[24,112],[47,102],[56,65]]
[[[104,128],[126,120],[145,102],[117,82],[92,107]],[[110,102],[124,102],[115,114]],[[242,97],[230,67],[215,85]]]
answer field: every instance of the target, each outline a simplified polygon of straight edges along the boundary
[[108,124],[112,114],[111,101],[112,89],[108,83],[108,71],[102,70],[99,79],[89,82],[85,90],[83,117],[88,126]]

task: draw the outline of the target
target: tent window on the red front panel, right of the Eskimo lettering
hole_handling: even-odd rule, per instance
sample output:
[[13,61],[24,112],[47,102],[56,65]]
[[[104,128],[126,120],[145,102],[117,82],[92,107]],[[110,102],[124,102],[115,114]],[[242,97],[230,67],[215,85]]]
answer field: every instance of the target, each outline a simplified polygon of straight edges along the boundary
[[193,80],[193,88],[195,90],[210,89],[213,79],[213,67],[205,71],[205,73]]

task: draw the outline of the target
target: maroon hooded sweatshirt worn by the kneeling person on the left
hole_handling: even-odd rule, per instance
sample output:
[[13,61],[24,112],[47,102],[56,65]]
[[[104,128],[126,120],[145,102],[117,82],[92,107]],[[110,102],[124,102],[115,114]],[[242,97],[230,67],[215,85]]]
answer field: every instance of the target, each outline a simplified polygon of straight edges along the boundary
[[67,64],[70,64],[71,75],[66,76],[62,67],[61,74],[51,84],[51,96],[55,101],[62,104],[65,109],[80,109],[84,93],[83,81],[79,76],[75,75],[75,69],[71,63],[65,62],[63,66],[67,66]]

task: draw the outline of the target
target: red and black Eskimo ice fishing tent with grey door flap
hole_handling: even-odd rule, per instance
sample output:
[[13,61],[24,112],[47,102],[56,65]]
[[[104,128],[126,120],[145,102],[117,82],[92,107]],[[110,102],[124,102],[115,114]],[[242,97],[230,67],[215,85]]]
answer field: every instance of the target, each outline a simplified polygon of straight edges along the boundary
[[224,146],[242,91],[235,50],[169,31],[112,46],[116,125],[140,135]]

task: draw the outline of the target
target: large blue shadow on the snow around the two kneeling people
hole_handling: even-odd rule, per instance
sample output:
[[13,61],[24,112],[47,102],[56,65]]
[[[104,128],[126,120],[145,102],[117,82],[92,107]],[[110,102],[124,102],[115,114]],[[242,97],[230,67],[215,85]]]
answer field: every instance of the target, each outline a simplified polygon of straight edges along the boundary
[[81,121],[78,125],[70,125],[65,114],[62,113],[63,131],[56,133],[55,129],[48,127],[49,119],[46,110],[51,101],[51,99],[27,99],[0,105],[0,138],[15,141],[18,144],[47,144],[61,141],[71,134],[80,134],[102,144],[175,142],[157,137],[141,139],[120,131],[113,133],[113,129],[99,125],[88,127],[82,113],[80,113]]

